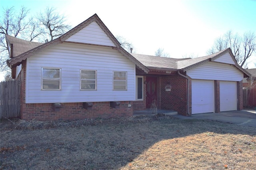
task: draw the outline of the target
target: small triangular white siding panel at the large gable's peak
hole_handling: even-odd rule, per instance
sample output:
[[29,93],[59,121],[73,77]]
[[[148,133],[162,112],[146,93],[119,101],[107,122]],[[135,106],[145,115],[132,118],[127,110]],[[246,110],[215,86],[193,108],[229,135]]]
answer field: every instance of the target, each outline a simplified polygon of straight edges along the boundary
[[96,23],[95,21],[78,31],[78,33],[70,36],[65,41],[116,47],[116,45],[114,45],[108,35],[100,28],[98,23]]

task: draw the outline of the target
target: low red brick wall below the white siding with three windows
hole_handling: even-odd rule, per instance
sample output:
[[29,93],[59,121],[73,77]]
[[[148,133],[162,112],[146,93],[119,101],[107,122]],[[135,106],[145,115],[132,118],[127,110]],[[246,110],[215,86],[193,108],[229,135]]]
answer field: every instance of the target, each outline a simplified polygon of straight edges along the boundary
[[91,110],[83,108],[83,103],[62,103],[60,111],[54,111],[53,104],[26,104],[23,108],[22,119],[41,121],[74,120],[132,116],[132,102],[121,102],[119,108],[110,107],[110,102],[93,102]]

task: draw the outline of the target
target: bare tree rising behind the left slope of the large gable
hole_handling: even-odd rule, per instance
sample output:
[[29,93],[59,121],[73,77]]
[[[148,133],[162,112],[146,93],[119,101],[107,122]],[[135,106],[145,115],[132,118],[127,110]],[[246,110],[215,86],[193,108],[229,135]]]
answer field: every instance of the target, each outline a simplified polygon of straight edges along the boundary
[[46,33],[50,36],[50,41],[60,37],[70,29],[70,25],[65,23],[65,16],[60,16],[55,8],[47,7],[45,12],[38,16],[38,21],[47,29]]

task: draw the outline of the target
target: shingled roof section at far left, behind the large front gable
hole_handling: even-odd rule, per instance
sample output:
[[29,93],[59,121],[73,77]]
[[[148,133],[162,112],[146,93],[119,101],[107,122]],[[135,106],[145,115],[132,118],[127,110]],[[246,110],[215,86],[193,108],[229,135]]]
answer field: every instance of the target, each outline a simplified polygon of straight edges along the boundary
[[19,39],[16,37],[12,37],[10,35],[5,35],[7,42],[10,44],[13,44],[13,57],[16,57],[18,55],[21,55],[31,49],[34,49],[43,43],[37,43],[37,42],[32,42],[32,41],[26,41],[23,39]]

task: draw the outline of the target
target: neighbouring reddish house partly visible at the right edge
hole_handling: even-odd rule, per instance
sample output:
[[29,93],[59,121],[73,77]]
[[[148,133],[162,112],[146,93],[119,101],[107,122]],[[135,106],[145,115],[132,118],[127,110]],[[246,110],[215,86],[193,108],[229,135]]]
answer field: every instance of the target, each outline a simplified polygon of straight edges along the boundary
[[243,79],[244,107],[256,107],[256,68],[246,69],[246,71],[252,76]]

